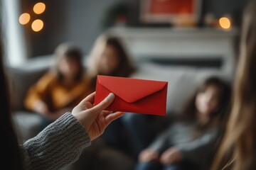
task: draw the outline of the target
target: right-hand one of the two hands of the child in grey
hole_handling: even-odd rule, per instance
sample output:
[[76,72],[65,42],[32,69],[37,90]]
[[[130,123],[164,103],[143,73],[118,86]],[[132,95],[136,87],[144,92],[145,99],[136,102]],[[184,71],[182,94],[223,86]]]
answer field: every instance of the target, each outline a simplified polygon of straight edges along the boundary
[[164,165],[171,165],[179,162],[182,159],[181,151],[176,147],[170,147],[163,154],[161,154],[160,162]]

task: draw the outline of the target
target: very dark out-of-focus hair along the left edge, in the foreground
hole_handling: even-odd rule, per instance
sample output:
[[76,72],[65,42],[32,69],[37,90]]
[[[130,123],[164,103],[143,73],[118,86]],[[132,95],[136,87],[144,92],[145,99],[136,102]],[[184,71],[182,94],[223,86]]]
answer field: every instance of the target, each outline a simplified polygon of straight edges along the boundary
[[11,118],[9,86],[4,69],[4,50],[1,35],[0,27],[0,134],[1,146],[6,147],[6,149],[1,149],[1,154],[4,156],[1,158],[1,166],[11,170],[23,170],[23,162],[21,161],[21,153],[18,147],[18,137]]

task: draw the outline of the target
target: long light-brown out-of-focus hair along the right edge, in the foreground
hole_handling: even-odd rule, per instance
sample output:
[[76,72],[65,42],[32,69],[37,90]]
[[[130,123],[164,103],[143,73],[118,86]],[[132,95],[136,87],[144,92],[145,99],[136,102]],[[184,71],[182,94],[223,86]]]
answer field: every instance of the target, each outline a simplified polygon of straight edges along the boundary
[[[256,151],[256,1],[248,4],[242,23],[240,56],[227,130],[212,169],[252,169]],[[225,160],[223,162],[223,160]],[[227,167],[227,169],[230,169]],[[255,169],[255,167],[254,167]]]

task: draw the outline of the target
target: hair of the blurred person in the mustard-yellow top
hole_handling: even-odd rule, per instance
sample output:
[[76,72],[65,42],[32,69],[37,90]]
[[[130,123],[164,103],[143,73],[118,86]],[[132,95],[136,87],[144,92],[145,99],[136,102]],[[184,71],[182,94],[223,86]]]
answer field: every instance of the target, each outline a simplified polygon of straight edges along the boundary
[[74,61],[78,65],[79,72],[75,76],[75,81],[79,81],[82,78],[84,73],[84,67],[82,64],[82,51],[71,42],[63,42],[58,47],[56,47],[55,56],[57,57],[57,64],[56,64],[56,74],[59,81],[63,81],[63,74],[58,70],[58,64],[60,60],[66,59],[69,61]]

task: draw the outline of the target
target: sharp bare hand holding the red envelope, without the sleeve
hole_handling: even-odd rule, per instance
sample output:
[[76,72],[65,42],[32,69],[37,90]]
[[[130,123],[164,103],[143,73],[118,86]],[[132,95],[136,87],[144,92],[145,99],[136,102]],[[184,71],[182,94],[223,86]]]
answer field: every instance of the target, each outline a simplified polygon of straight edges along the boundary
[[95,92],[83,99],[72,111],[75,118],[85,126],[85,130],[87,130],[91,140],[95,140],[95,138],[102,135],[107,125],[113,120],[124,115],[122,112],[103,111],[114,101],[114,94],[109,94],[97,106],[93,106],[94,98]]

